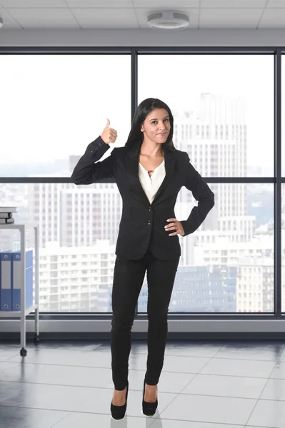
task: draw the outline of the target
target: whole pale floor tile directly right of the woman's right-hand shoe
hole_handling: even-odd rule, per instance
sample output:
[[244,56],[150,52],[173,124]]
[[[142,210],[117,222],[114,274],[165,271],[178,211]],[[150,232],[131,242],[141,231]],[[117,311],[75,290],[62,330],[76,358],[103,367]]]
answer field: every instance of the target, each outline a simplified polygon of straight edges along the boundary
[[242,425],[246,424],[255,404],[256,399],[179,394],[161,412],[161,418]]

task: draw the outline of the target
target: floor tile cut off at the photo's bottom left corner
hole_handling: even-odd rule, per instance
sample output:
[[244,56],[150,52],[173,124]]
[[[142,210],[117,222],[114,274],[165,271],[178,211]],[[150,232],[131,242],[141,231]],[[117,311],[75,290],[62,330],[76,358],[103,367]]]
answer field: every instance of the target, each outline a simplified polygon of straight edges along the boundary
[[23,407],[0,407],[0,427],[3,428],[51,428],[65,417],[67,412]]

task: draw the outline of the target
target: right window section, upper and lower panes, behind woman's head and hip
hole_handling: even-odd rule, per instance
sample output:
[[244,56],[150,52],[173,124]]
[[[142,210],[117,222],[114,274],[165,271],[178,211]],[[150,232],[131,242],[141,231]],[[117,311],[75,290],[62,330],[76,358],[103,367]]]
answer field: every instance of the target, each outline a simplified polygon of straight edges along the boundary
[[[167,68],[171,60],[175,69],[169,80],[160,70]],[[179,124],[174,128],[174,146],[194,153],[191,163],[202,176],[247,178],[274,174],[274,56],[144,54],[138,63],[138,101],[154,96],[175,111],[174,121]],[[182,126],[194,129],[191,140],[183,141],[183,146]],[[207,126],[211,133],[205,132]],[[266,290],[264,278],[268,275],[265,269],[274,266],[274,235],[270,227],[274,224],[274,186],[209,186],[216,195],[216,205],[195,232],[192,255],[184,261],[186,277],[178,268],[169,312],[272,312],[274,270],[269,274]],[[175,211],[177,218],[184,219],[179,201],[181,205],[189,203],[189,213],[196,201],[189,196],[189,190],[181,189]],[[179,239],[184,243],[184,238]],[[254,254],[249,255],[249,250]],[[249,284],[261,287],[262,298],[256,293],[250,296]],[[242,297],[237,293],[239,286],[245,287]],[[207,298],[210,287],[216,295],[211,301]],[[188,291],[193,292],[191,301],[183,294]],[[139,312],[146,312],[145,293],[146,280],[139,297]]]

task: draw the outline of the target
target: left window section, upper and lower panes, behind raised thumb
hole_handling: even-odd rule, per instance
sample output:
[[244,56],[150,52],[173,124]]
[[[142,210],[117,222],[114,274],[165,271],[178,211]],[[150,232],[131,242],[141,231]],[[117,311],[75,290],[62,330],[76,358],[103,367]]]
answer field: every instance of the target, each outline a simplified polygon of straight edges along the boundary
[[[70,177],[88,144],[101,134],[106,118],[118,131],[116,146],[124,146],[131,126],[129,54],[1,55],[0,81],[6,82],[0,104],[1,143],[5,146],[0,156],[1,176]],[[25,103],[15,103],[12,101],[15,99],[24,99]],[[110,151],[101,161],[109,155]],[[109,184],[104,195],[102,186],[101,183],[89,186],[72,183],[0,184],[0,205],[9,200],[18,206],[15,221],[39,224],[40,312],[72,311],[70,303],[74,298],[79,303],[78,308],[83,307],[84,300],[85,312],[111,312],[106,296],[112,287],[112,277],[106,277],[106,274],[113,267],[115,258],[121,195],[115,183]],[[112,195],[114,188],[116,192]],[[93,197],[90,196],[92,193]],[[110,236],[106,236],[101,223],[101,205],[105,199],[109,199],[110,207],[116,207],[110,218]],[[93,208],[99,207],[98,213],[91,214],[94,225],[87,220],[89,213],[82,206],[87,206],[87,202],[91,213]],[[78,216],[80,210],[81,217]],[[82,235],[80,230],[84,230]],[[33,238],[31,229],[27,236],[31,248],[34,248]],[[108,239],[109,245],[106,244]],[[19,247],[19,243],[19,233],[0,230],[0,250]],[[88,270],[91,255],[100,260],[102,249],[106,269],[91,273]],[[81,275],[82,270],[86,274]],[[104,290],[99,289],[101,275],[104,275]],[[64,295],[61,294],[62,277],[65,280]],[[71,294],[71,285],[76,288],[76,295]],[[83,285],[86,290],[96,286],[96,300],[91,302]]]

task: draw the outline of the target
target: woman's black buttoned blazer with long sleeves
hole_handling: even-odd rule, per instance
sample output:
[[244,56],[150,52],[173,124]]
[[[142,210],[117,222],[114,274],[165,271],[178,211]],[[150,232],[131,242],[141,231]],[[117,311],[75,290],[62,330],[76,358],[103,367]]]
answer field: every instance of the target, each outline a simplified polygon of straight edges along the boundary
[[159,260],[179,258],[179,236],[169,236],[175,230],[166,232],[164,226],[171,223],[166,220],[175,218],[174,205],[184,185],[198,200],[198,206],[192,208],[189,218],[181,221],[184,236],[193,233],[214,206],[214,193],[209,185],[191,165],[186,152],[171,152],[163,145],[166,175],[153,202],[149,203],[139,181],[140,144],[114,148],[111,156],[96,162],[109,148],[101,137],[90,143],[75,166],[71,180],[74,184],[91,184],[104,178],[116,180],[123,200],[116,255],[138,260],[150,245],[151,253]]

